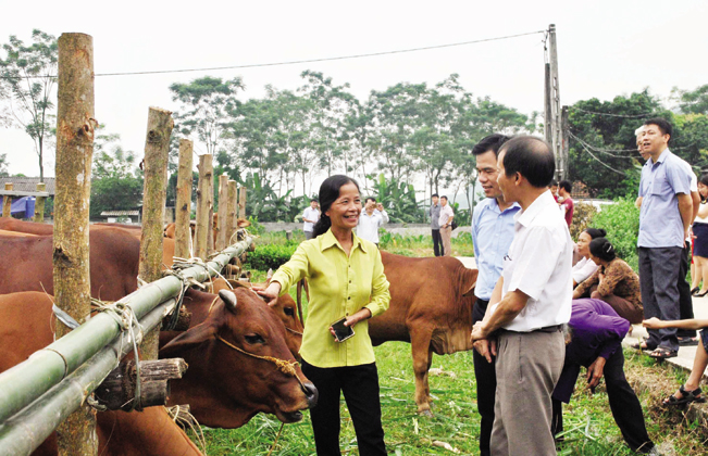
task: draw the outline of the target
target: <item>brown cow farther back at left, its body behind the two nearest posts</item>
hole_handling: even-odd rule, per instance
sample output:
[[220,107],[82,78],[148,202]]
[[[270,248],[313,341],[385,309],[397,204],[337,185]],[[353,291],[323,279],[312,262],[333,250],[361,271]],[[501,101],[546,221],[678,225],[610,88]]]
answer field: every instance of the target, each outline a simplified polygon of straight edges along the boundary
[[[140,241],[123,229],[103,228],[91,230],[89,242],[91,296],[117,301],[137,290]],[[17,291],[53,294],[51,236],[0,236],[0,252],[4,258],[0,262],[0,294]]]

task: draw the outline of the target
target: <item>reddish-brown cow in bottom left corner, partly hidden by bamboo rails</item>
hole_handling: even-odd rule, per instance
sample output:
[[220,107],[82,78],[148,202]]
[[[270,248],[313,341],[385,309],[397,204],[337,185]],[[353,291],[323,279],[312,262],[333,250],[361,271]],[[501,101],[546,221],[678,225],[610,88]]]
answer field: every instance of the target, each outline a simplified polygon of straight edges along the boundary
[[[51,306],[51,296],[40,292],[0,296],[0,371],[53,342]],[[101,411],[96,418],[100,455],[201,455],[163,407]],[[57,435],[49,436],[33,454],[57,455]]]

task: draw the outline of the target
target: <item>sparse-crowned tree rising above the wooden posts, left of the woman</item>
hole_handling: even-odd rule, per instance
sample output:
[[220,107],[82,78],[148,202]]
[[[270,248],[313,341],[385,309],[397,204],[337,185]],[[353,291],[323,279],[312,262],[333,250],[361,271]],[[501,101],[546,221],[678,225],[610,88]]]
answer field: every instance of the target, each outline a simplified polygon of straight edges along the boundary
[[239,104],[236,92],[244,88],[240,77],[222,80],[204,76],[189,84],[171,85],[172,100],[182,103],[175,113],[175,130],[197,135],[207,147],[206,153],[215,155],[223,143],[224,129],[232,122],[229,115]]

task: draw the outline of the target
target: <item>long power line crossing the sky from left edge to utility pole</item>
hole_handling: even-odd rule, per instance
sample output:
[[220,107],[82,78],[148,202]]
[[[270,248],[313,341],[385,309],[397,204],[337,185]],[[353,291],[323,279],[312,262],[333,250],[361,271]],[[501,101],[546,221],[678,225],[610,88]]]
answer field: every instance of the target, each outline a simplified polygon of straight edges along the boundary
[[[527,31],[524,34],[517,34],[517,35],[507,35],[502,37],[494,37],[494,38],[484,38],[484,39],[476,39],[472,41],[462,41],[462,42],[452,42],[448,45],[437,45],[437,46],[425,46],[422,48],[410,48],[410,49],[399,49],[396,51],[381,51],[381,52],[371,52],[371,53],[365,53],[365,54],[352,54],[352,55],[341,55],[341,56],[333,56],[333,58],[320,58],[320,59],[306,59],[306,60],[291,60],[291,61],[285,61],[285,62],[273,62],[273,63],[254,63],[254,64],[248,64],[248,65],[231,65],[231,66],[212,66],[212,67],[204,67],[204,68],[182,68],[182,69],[158,69],[158,71],[148,71],[148,72],[122,72],[122,73],[97,73],[95,76],[135,76],[135,75],[156,75],[156,74],[169,74],[169,73],[191,73],[191,72],[215,72],[215,71],[222,71],[222,69],[240,69],[240,68],[260,68],[260,67],[266,67],[266,66],[284,66],[284,65],[297,65],[301,63],[316,63],[316,62],[331,62],[331,61],[337,61],[337,60],[349,60],[349,59],[364,59],[364,58],[371,58],[371,56],[380,56],[380,55],[390,55],[390,54],[401,54],[401,53],[407,53],[407,52],[418,52],[418,51],[428,51],[433,49],[443,49],[443,48],[452,48],[457,46],[467,46],[467,45],[476,45],[480,42],[488,42],[488,41],[499,41],[504,39],[510,39],[510,38],[518,38],[518,37],[523,37],[527,35],[536,35],[536,34],[545,34],[546,30],[536,30],[536,31]],[[42,78],[42,77],[55,77],[55,76],[0,76],[2,79],[33,79],[33,78]]]

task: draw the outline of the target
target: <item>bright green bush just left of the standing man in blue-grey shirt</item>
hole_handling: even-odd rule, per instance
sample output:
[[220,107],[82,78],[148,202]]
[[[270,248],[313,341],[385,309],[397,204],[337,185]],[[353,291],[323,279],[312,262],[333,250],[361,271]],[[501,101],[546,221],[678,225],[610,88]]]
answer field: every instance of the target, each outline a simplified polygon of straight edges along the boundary
[[634,270],[638,269],[636,241],[639,235],[639,210],[634,206],[634,200],[620,199],[612,205],[603,206],[591,226],[605,229],[617,255]]

